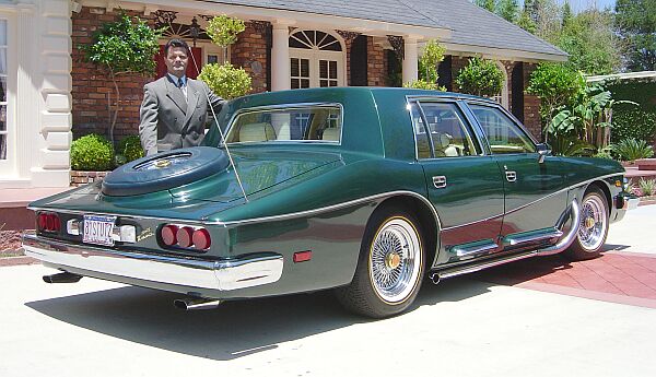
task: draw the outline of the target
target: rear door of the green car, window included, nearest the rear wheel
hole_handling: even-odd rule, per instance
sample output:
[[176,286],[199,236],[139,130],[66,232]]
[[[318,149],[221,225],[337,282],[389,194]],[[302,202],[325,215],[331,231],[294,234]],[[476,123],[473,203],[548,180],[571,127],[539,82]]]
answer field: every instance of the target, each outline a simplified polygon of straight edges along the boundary
[[504,192],[496,161],[483,155],[456,101],[414,102],[411,111],[429,200],[441,221],[435,264],[499,251]]

